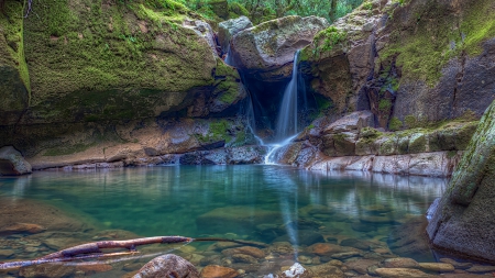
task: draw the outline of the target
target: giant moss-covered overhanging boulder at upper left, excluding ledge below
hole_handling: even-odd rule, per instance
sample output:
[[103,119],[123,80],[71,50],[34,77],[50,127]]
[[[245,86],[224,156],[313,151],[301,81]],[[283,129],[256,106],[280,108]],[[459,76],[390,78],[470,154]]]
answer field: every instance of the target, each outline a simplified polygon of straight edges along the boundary
[[174,1],[35,8],[23,29],[32,93],[21,124],[145,119],[186,111],[198,93],[210,102],[220,85],[240,88],[216,78],[208,24]]

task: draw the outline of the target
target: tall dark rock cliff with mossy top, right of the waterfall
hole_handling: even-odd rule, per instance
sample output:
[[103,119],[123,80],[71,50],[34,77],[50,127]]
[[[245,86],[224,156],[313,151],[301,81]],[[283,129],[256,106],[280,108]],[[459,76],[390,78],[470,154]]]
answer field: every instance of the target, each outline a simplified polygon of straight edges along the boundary
[[495,99],[493,1],[372,1],[302,52],[311,89],[334,113],[367,110],[382,127],[473,113]]

